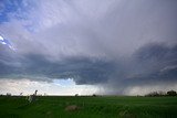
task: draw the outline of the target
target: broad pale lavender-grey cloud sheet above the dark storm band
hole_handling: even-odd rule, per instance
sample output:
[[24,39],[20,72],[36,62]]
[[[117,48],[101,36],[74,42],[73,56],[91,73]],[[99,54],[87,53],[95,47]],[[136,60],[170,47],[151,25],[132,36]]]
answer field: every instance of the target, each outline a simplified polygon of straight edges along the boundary
[[176,23],[175,9],[169,10],[168,4],[158,1],[152,10],[152,2],[24,0],[23,9],[28,10],[21,8],[13,13],[22,19],[10,17],[10,22],[0,25],[0,32],[14,40],[23,53],[35,50],[58,58],[63,55],[114,58],[129,55],[146,43],[170,43],[176,37],[176,33],[168,32]]

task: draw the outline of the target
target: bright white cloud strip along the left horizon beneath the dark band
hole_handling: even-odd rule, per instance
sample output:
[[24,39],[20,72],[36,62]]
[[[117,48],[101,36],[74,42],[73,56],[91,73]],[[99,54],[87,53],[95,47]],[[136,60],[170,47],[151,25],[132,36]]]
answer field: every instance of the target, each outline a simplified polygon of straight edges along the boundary
[[[64,84],[65,83],[65,84]],[[12,95],[31,95],[38,89],[39,95],[92,95],[97,92],[97,87],[91,85],[75,85],[72,79],[64,79],[46,83],[30,79],[0,79],[0,94],[11,93]]]

